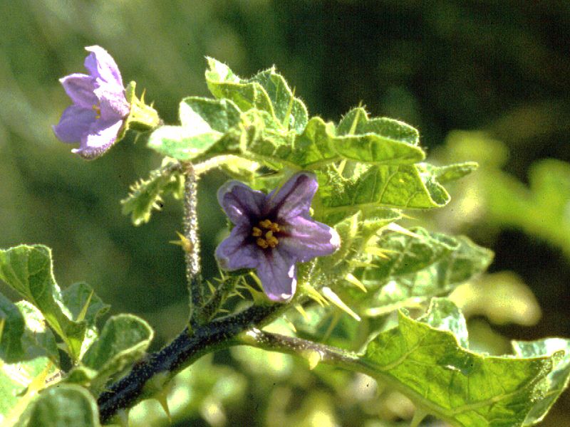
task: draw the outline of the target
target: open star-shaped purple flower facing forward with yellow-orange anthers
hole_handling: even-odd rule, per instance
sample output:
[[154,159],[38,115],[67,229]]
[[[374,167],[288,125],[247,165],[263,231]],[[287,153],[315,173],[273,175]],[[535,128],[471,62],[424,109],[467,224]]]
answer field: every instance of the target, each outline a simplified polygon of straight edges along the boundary
[[309,172],[291,176],[270,194],[239,181],[224,184],[218,201],[235,227],[216,249],[220,267],[256,268],[270,300],[289,300],[297,285],[295,264],[330,255],[341,244],[333,228],[309,216],[317,188]]

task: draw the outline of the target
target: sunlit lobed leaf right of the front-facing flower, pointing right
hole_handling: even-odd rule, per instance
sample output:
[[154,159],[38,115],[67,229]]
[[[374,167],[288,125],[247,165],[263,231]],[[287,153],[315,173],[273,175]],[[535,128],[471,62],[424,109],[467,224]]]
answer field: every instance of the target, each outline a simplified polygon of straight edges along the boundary
[[492,251],[470,239],[428,233],[413,228],[413,236],[385,233],[375,242],[383,258],[363,273],[362,282],[371,290],[363,307],[368,316],[385,315],[398,307],[415,306],[437,295],[447,295],[457,285],[487,269]]

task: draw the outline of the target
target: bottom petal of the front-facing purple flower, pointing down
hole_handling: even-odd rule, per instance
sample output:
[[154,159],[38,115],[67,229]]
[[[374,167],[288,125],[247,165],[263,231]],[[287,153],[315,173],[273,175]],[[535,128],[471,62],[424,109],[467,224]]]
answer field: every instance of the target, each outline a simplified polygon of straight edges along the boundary
[[272,301],[285,302],[293,297],[297,287],[295,261],[286,253],[275,249],[263,253],[257,265],[257,277],[267,297]]

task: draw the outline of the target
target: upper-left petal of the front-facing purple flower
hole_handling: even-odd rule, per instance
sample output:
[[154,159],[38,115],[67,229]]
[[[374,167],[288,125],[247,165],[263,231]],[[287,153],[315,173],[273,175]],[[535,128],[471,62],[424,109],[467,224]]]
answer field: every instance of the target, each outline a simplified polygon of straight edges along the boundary
[[219,187],[217,196],[219,205],[234,224],[249,224],[251,218],[258,218],[266,198],[261,191],[252,190],[239,181],[227,181]]

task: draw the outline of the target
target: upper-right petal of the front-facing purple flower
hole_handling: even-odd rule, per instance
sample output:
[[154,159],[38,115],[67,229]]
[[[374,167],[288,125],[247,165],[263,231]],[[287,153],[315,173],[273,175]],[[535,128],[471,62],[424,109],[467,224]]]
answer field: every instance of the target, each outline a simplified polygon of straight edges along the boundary
[[317,189],[318,183],[314,174],[299,172],[291,176],[279,191],[269,194],[266,208],[269,212],[274,212],[281,221],[308,215]]

